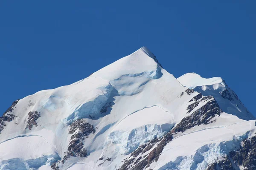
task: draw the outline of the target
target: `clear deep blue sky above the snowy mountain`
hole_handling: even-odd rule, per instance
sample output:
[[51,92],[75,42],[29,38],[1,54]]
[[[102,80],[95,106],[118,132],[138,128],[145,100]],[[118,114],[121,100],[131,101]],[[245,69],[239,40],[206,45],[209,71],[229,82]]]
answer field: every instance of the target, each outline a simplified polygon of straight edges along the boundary
[[256,1],[0,2],[0,114],[147,46],[180,77],[222,77],[256,115]]

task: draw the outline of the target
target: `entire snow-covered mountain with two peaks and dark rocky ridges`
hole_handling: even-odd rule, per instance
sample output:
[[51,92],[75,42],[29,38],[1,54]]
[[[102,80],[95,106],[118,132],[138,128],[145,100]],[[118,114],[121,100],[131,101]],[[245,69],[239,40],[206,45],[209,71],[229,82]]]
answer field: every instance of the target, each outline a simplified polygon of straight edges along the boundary
[[255,117],[218,77],[140,48],[0,117],[1,170],[256,170]]

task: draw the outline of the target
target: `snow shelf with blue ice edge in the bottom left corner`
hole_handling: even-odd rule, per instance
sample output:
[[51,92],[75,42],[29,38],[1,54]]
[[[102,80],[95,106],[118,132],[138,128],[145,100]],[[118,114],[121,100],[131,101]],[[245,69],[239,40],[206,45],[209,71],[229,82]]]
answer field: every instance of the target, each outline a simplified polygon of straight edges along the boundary
[[57,150],[41,136],[20,136],[0,144],[0,168],[38,168],[60,159]]

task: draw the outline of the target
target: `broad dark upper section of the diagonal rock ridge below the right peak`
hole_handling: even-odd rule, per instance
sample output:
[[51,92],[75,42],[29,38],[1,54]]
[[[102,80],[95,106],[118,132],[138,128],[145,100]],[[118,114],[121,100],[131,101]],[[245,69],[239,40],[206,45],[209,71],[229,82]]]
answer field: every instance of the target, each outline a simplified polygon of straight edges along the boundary
[[213,118],[215,116],[219,116],[222,113],[222,111],[212,96],[203,97],[201,101],[206,102],[205,99],[208,100],[207,104],[196,110],[191,115],[183,118],[180,121],[180,123],[176,125],[174,129],[172,129],[172,133],[184,132],[185,130],[190,129],[194,126],[202,124],[207,125],[209,123],[214,122]]

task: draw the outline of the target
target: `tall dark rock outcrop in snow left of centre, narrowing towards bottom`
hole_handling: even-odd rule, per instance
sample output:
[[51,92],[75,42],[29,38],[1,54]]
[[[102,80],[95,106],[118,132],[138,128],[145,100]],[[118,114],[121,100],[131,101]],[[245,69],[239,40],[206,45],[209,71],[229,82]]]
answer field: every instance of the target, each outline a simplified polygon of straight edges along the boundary
[[[65,153],[65,156],[63,159],[59,160],[58,162],[52,164],[53,170],[59,170],[58,164],[61,162],[62,164],[65,163],[65,160],[70,158],[70,156],[73,157],[86,157],[87,156],[87,150],[84,148],[84,143],[82,142],[84,140],[84,137],[88,137],[91,133],[95,133],[95,129],[93,125],[86,122],[84,119],[79,119],[73,122],[70,125],[69,132],[70,134],[73,134],[70,139],[70,143],[67,147],[67,152]],[[58,168],[57,168],[58,167]],[[57,169],[54,169],[57,168]]]

